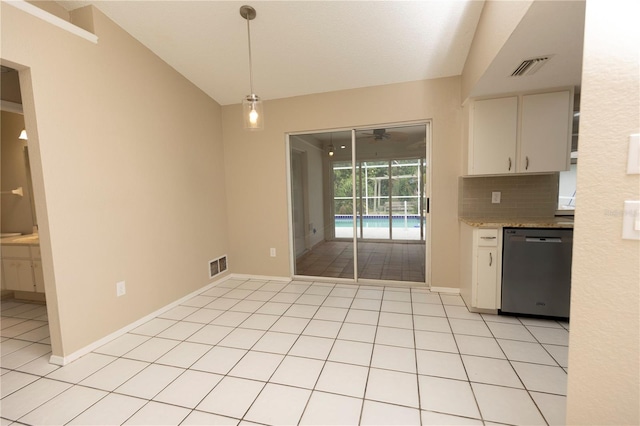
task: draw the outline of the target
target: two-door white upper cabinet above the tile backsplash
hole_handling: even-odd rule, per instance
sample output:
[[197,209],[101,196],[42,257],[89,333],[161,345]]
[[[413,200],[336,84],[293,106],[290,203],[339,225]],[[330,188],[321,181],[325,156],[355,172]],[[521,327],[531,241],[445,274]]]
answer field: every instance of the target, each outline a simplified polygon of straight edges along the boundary
[[568,170],[571,90],[474,101],[470,175]]

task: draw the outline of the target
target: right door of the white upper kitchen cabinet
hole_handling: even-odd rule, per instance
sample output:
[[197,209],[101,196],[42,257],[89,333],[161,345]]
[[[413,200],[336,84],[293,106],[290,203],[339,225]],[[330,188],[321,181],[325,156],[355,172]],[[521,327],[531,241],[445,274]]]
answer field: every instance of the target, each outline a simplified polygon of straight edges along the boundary
[[571,92],[522,97],[520,173],[569,169]]

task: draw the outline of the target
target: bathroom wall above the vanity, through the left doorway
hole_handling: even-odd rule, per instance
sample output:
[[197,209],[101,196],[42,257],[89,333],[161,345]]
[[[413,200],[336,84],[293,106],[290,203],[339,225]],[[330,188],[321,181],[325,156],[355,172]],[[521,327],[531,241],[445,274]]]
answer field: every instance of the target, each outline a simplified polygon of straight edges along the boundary
[[20,232],[30,234],[33,231],[34,218],[31,214],[30,187],[27,176],[26,143],[18,139],[24,129],[22,114],[2,111],[2,191],[11,191],[22,187],[23,197],[2,195],[0,199],[0,217],[2,232]]

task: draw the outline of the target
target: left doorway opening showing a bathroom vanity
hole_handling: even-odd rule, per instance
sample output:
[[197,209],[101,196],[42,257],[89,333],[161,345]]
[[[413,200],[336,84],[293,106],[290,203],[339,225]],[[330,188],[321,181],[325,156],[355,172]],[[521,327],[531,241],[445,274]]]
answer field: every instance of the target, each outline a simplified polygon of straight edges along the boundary
[[[32,143],[25,125],[24,87],[21,87],[20,77],[21,72],[2,65],[0,246],[3,336],[8,339],[4,343],[9,346],[15,342],[30,342],[24,351],[48,357],[51,336],[29,158]],[[19,343],[16,347],[22,348],[22,345]],[[12,353],[13,359],[20,359],[21,350]]]

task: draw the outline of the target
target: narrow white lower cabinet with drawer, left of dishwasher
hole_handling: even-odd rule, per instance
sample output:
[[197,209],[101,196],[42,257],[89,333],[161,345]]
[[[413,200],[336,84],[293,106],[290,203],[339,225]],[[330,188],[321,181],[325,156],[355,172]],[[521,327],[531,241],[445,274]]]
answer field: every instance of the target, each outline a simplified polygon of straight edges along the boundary
[[498,228],[461,224],[460,293],[470,308],[500,308],[502,233]]

